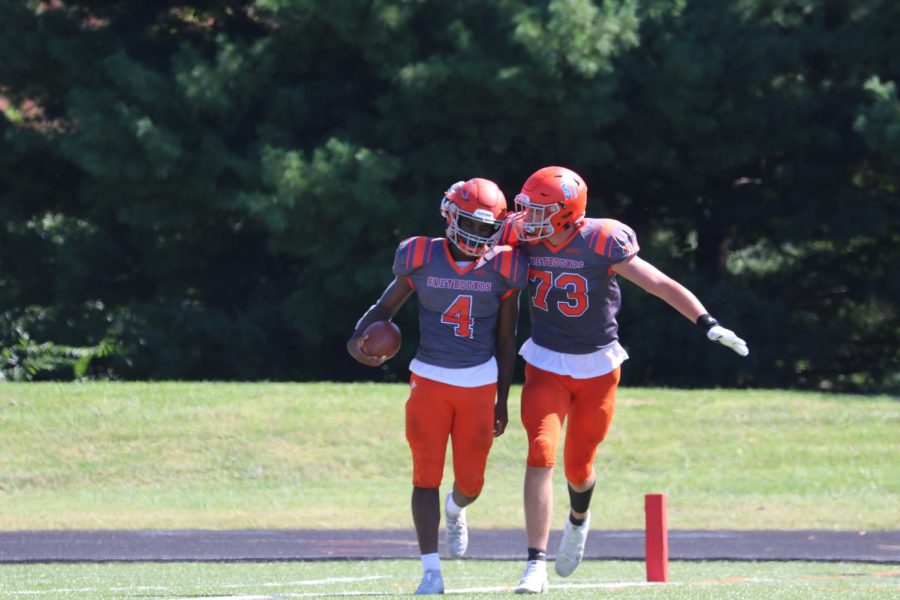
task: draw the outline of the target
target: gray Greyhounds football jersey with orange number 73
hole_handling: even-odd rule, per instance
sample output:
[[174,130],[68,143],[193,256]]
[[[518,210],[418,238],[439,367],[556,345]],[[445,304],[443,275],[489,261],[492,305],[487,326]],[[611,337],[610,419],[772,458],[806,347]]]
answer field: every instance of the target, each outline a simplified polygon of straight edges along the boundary
[[528,257],[531,338],[566,354],[589,354],[618,336],[622,305],[610,267],[639,250],[634,231],[614,219],[584,219],[568,242],[521,244]]

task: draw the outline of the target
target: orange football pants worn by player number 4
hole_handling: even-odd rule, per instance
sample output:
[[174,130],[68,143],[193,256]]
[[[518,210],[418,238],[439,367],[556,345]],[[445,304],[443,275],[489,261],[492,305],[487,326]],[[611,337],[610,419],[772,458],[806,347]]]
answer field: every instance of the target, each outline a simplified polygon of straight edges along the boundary
[[440,487],[447,439],[453,444],[453,475],[466,496],[484,487],[494,443],[494,383],[459,387],[412,374],[406,401],[406,441],[413,458],[413,485]]

